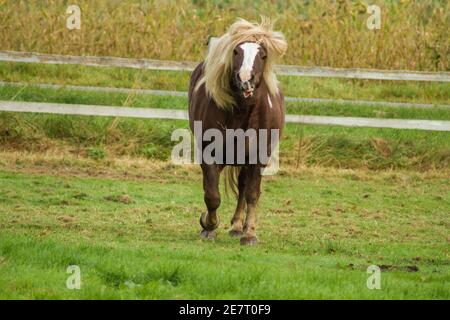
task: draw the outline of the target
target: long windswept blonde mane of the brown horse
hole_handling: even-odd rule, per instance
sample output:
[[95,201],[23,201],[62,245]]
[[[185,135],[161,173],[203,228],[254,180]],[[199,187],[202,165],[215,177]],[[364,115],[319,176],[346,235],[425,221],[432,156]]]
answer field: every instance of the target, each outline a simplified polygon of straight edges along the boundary
[[204,83],[206,92],[220,108],[230,108],[235,101],[230,88],[233,50],[242,42],[251,41],[261,44],[267,50],[264,80],[271,95],[278,94],[278,80],[273,71],[274,62],[287,50],[287,42],[282,33],[273,31],[273,23],[261,17],[261,23],[250,23],[238,19],[228,32],[220,37],[210,48],[205,62],[204,74],[195,90]]

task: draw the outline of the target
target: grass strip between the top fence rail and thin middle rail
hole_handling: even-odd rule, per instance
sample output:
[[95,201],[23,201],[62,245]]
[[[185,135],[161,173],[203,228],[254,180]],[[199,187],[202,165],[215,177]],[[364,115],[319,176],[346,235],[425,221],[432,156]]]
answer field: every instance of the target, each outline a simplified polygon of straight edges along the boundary
[[[450,104],[450,84],[279,77],[286,96]],[[189,72],[0,62],[0,80],[187,91]]]

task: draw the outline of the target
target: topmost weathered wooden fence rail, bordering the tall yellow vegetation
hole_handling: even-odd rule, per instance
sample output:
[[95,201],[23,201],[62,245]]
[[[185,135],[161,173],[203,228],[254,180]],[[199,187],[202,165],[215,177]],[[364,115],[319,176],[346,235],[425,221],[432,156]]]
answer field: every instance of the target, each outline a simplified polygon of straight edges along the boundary
[[[0,61],[47,64],[76,64],[85,66],[124,67],[149,70],[192,71],[197,62],[163,61],[117,57],[70,56],[37,52],[0,51]],[[304,67],[277,65],[280,75],[326,77],[369,80],[406,80],[450,82],[450,72],[424,72],[406,70],[343,69],[329,67]]]

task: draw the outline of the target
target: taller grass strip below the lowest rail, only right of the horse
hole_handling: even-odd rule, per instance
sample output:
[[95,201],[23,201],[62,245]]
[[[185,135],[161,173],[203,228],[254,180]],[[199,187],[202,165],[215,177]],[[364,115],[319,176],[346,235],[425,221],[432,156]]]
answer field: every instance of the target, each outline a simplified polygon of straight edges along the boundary
[[288,125],[281,159],[291,165],[369,170],[450,168],[449,132]]

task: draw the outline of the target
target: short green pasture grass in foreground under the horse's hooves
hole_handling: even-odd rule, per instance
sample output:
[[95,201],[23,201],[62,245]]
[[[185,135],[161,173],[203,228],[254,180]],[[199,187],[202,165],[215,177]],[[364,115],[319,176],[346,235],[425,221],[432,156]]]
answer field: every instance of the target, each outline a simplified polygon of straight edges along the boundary
[[[226,234],[232,199],[217,240],[199,239],[198,169],[136,180],[38,167],[0,171],[2,299],[450,298],[448,176],[284,172],[264,182],[247,248]],[[385,265],[381,290],[366,288],[372,264]],[[81,290],[65,287],[69,265]]]

